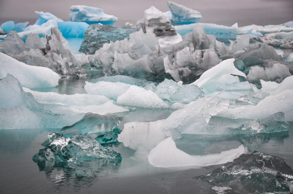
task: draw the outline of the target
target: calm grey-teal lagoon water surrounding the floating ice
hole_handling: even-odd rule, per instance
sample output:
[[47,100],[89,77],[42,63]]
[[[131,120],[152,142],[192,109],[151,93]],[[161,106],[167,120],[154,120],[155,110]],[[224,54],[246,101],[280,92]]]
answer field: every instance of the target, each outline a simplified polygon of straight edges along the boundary
[[[91,72],[87,77],[61,78],[59,86],[42,89],[62,94],[85,93],[85,81],[103,76]],[[124,117],[119,124],[132,121],[155,121],[167,118],[171,109],[137,108],[118,113]],[[215,121],[219,118],[214,118]],[[224,121],[228,122],[228,121]],[[208,183],[192,177],[219,167],[154,168],[146,154],[137,154],[122,143],[110,145],[122,155],[121,163],[93,160],[78,168],[90,169],[92,176],[78,178],[76,169],[65,165],[43,165],[32,160],[42,149],[47,133],[52,129],[0,130],[0,193],[214,193]],[[54,129],[56,131],[56,129]],[[92,136],[95,136],[93,134]],[[220,153],[243,144],[250,151],[277,155],[293,166],[293,123],[289,131],[256,135],[183,135],[176,146],[191,155]]]

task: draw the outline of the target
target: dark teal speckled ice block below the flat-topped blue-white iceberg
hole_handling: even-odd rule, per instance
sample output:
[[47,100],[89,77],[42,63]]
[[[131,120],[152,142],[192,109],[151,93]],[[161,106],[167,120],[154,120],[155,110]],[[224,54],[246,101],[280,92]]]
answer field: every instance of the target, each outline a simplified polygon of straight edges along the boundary
[[92,24],[84,32],[84,39],[79,52],[93,55],[96,50],[103,47],[103,44],[125,38],[129,39],[129,34],[137,31],[136,27],[130,25],[114,27],[112,25]]

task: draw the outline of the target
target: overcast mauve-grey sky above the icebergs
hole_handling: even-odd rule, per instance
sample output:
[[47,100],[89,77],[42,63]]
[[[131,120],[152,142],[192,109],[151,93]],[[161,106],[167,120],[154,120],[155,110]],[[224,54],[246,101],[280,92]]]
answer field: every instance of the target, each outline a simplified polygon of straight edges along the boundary
[[[293,0],[174,0],[202,13],[200,22],[239,26],[280,24],[293,20]],[[135,22],[144,10],[155,6],[168,11],[162,0],[0,0],[0,24],[8,20],[34,22],[34,11],[50,12],[64,21],[69,20],[71,5],[102,8],[118,17],[119,23]]]

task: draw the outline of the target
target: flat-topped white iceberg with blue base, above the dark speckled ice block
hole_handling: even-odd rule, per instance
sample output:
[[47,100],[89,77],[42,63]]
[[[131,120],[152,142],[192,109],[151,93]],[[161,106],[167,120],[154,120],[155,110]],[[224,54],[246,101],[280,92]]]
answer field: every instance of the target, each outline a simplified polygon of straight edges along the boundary
[[70,7],[72,13],[69,14],[70,21],[86,22],[88,24],[101,23],[113,25],[117,21],[114,15],[108,15],[102,9],[84,5],[73,5]]

